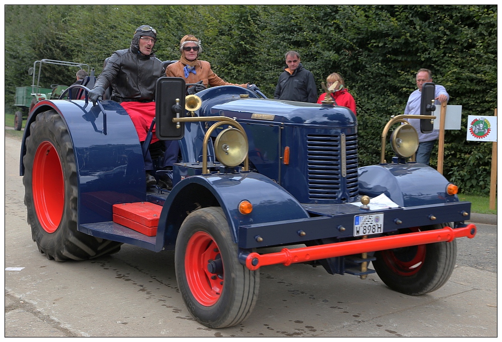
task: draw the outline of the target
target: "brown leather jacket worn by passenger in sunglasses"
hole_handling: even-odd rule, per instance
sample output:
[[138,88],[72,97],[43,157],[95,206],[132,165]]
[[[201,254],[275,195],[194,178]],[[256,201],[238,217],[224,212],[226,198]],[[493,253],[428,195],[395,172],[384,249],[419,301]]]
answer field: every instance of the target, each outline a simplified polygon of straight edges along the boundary
[[216,85],[238,85],[239,87],[246,88],[247,83],[235,84],[228,83],[222,80],[216,75],[213,70],[211,70],[211,64],[205,60],[198,60],[195,65],[196,74],[190,72],[188,78],[185,78],[185,72],[183,68],[185,65],[181,61],[177,61],[173,64],[169,64],[166,69],[167,77],[181,77],[186,83],[197,83],[202,80],[202,83],[207,87],[215,87]]

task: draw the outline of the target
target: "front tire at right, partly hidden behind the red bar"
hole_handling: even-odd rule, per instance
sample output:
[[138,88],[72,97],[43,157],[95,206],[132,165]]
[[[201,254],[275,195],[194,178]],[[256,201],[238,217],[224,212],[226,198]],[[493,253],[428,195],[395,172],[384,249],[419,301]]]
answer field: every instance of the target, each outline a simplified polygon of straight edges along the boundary
[[[417,227],[411,231],[441,229],[446,224]],[[436,242],[375,252],[373,267],[391,289],[412,296],[442,287],[450,278],[457,256],[457,242]]]

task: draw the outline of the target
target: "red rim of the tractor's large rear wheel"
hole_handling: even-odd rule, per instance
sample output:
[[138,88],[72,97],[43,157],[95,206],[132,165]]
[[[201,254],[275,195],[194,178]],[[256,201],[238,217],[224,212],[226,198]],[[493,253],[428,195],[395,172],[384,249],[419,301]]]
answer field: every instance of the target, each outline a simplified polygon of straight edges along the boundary
[[49,141],[42,142],[35,153],[32,190],[42,228],[48,233],[55,232],[63,216],[64,178],[58,152]]

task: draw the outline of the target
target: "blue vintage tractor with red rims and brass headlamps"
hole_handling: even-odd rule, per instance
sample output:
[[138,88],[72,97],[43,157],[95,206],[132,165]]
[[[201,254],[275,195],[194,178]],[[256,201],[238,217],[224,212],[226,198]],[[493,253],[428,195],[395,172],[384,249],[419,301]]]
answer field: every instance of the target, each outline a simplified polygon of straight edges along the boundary
[[[361,278],[376,271],[408,295],[447,282],[455,238],[476,232],[464,224],[470,203],[436,170],[409,161],[418,139],[403,116],[382,135],[385,150],[390,126],[403,124],[390,139],[392,162],[358,167],[357,121],[345,107],[234,86],[185,98],[185,87],[182,78],[157,83],[155,134],[181,147],[172,190],[145,185],[142,146],[118,103],[34,106],[20,174],[41,253],[64,261],[115,253],[122,243],[174,249],[183,300],[212,328],[251,314],[267,265],[322,265]],[[282,249],[265,249],[272,246]]]

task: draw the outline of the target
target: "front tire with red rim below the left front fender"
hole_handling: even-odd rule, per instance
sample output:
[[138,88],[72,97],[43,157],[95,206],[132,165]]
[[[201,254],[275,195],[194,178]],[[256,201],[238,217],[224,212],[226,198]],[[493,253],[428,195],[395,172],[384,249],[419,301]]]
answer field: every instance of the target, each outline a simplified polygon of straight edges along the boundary
[[199,209],[183,221],[175,267],[183,300],[199,323],[234,326],[253,311],[260,273],[238,262],[237,245],[221,208]]

